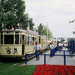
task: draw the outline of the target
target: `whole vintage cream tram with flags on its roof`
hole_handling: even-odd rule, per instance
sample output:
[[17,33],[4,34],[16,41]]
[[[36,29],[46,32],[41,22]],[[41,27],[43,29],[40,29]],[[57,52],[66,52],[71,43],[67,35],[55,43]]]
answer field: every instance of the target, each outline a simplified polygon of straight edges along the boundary
[[37,32],[7,25],[0,31],[0,57],[3,58],[24,58],[25,54],[31,54],[35,42],[38,42],[41,49],[47,48],[47,39],[38,35]]

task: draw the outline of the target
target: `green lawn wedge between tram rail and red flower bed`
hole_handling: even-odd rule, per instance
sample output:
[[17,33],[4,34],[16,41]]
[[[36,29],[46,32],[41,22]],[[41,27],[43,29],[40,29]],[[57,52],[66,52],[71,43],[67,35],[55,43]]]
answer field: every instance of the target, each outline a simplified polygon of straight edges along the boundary
[[13,66],[0,72],[0,75],[32,75],[37,65]]

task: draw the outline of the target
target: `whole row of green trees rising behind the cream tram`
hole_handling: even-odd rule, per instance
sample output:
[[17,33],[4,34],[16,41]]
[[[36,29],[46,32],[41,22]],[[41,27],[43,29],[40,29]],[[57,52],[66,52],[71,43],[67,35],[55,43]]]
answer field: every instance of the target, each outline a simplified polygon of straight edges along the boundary
[[31,30],[39,32],[39,35],[46,36],[48,29],[48,37],[52,38],[52,32],[42,23],[39,24],[37,29],[34,28],[35,24],[33,23],[33,19],[28,16],[25,9],[26,5],[23,0],[0,0],[0,30],[2,29],[2,23],[4,23],[5,26],[7,24],[16,26],[18,23],[21,23],[23,29],[26,30],[29,21]]

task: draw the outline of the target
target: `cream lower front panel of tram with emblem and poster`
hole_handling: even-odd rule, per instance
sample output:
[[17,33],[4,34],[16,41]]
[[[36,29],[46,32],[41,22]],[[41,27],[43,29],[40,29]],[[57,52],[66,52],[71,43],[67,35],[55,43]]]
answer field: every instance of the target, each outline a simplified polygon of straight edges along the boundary
[[1,46],[1,56],[2,57],[16,57],[22,55],[22,45],[2,45]]

